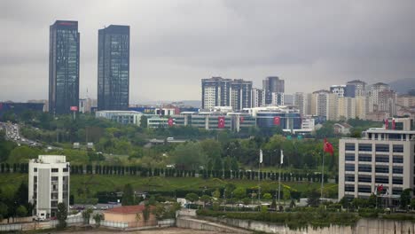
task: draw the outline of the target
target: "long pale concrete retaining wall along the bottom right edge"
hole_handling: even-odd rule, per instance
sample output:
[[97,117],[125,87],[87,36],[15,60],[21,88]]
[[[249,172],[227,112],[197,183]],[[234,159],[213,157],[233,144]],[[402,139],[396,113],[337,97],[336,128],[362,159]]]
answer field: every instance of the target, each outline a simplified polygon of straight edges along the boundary
[[354,227],[341,227],[333,225],[328,228],[316,230],[313,230],[312,227],[309,227],[307,230],[290,230],[284,225],[278,225],[270,222],[256,222],[215,217],[203,218],[212,222],[222,222],[226,225],[242,229],[280,234],[415,234],[415,223],[380,219],[360,219]]

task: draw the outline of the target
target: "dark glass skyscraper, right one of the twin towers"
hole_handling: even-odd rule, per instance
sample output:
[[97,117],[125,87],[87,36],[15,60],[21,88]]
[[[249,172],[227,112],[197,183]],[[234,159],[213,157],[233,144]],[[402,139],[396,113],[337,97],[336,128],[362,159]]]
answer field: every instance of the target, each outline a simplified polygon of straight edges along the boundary
[[98,110],[129,108],[129,26],[98,30]]

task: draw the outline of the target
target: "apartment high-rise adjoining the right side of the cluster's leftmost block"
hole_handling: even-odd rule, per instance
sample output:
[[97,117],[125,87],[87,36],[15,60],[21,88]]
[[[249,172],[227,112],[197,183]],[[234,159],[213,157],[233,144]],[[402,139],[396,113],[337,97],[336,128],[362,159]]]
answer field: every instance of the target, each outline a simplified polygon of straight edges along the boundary
[[252,107],[252,82],[244,80],[231,81],[231,106],[233,110]]

